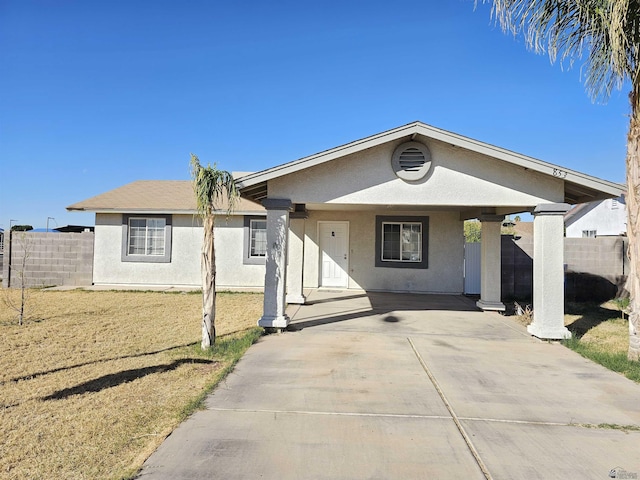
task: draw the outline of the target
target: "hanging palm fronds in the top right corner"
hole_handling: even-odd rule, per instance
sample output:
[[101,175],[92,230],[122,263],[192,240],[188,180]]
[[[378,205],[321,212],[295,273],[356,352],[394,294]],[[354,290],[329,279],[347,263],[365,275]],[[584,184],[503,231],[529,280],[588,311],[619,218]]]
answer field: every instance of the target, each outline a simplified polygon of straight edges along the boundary
[[637,0],[483,0],[492,18],[552,62],[571,67],[583,60],[582,75],[594,99],[607,99],[629,80],[637,86],[640,2]]

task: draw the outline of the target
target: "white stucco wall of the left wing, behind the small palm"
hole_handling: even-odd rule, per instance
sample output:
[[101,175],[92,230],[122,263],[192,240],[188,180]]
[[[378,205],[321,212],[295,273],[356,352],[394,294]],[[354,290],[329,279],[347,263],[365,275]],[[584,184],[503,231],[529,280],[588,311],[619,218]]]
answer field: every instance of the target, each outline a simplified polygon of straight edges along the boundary
[[[193,215],[172,216],[169,263],[123,262],[122,215],[96,214],[93,282],[96,285],[201,285],[202,227]],[[216,285],[219,290],[264,285],[264,265],[243,265],[243,217],[216,221]]]

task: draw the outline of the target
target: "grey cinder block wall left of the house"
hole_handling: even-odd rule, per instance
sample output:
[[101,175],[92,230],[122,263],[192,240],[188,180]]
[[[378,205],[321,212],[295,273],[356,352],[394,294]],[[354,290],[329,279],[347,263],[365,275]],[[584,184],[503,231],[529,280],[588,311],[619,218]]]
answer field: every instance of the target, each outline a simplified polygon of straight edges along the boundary
[[93,232],[13,232],[11,268],[8,238],[5,238],[3,286],[19,288],[23,276],[27,287],[91,285],[93,239]]

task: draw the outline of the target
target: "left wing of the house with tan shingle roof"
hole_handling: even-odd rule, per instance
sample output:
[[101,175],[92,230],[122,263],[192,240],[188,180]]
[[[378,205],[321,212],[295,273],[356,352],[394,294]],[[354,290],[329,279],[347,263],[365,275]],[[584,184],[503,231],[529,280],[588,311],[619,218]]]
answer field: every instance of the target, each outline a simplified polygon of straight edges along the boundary
[[[190,181],[132,182],[67,209],[96,213],[94,285],[202,285],[202,222]],[[266,211],[247,199],[241,199],[233,215],[227,216],[226,209],[220,205],[215,227],[218,288],[262,290],[264,251],[251,256],[242,246],[253,226],[256,253],[258,227],[266,235]]]

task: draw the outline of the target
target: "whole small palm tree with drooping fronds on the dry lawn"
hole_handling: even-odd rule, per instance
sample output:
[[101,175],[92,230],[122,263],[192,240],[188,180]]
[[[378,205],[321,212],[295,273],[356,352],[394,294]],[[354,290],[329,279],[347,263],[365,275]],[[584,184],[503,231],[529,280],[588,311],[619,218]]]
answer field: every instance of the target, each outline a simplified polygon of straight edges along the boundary
[[191,177],[196,196],[198,214],[202,218],[204,237],[200,269],[202,273],[202,349],[205,350],[216,341],[216,257],[213,227],[216,206],[220,200],[226,201],[227,215],[231,213],[239,193],[229,172],[200,165],[200,160],[191,154]]

